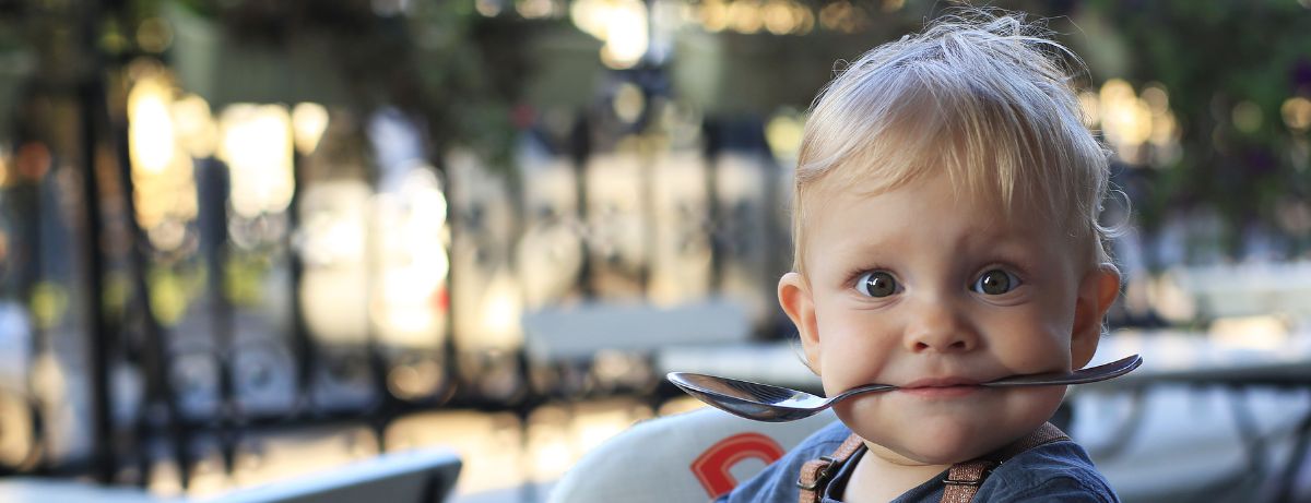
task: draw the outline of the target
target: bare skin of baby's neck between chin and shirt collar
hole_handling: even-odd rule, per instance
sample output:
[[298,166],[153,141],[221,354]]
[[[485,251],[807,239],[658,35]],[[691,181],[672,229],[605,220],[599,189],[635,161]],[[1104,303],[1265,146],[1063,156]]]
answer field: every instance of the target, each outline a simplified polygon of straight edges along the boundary
[[886,503],[952,466],[918,464],[881,445],[868,441],[865,445],[869,451],[851,472],[843,502]]

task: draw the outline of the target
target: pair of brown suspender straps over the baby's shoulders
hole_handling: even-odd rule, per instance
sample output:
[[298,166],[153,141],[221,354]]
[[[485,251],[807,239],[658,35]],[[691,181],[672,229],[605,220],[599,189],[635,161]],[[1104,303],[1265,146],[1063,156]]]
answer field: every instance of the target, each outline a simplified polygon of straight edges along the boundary
[[[952,465],[952,468],[947,472],[947,478],[943,479],[943,483],[945,483],[947,487],[943,490],[941,503],[969,503],[970,499],[974,498],[974,494],[978,493],[979,486],[983,485],[983,479],[987,478],[987,475],[991,474],[998,465],[1034,447],[1061,440],[1070,440],[1070,438],[1051,423],[1044,423],[1041,427],[1029,434],[1029,436],[1025,436],[1013,444],[1003,447],[979,458]],[[861,439],[856,436],[856,434],[851,434],[851,436],[848,436],[847,440],[844,440],[842,445],[832,452],[832,455],[806,461],[806,464],[801,466],[801,478],[797,479],[797,489],[801,490],[801,503],[819,503],[823,496],[825,487],[829,486],[832,475],[838,474],[842,465],[847,462],[847,460],[850,460],[861,445]]]

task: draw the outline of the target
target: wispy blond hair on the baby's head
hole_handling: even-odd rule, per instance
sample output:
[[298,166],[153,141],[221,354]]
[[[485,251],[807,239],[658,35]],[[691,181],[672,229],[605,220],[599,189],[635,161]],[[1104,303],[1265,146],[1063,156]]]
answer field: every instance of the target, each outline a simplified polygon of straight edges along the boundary
[[1019,14],[964,10],[847,65],[810,106],[796,170],[793,269],[804,270],[809,196],[819,186],[891,190],[945,170],[958,190],[1040,211],[1091,258],[1108,149],[1084,124],[1070,50]]

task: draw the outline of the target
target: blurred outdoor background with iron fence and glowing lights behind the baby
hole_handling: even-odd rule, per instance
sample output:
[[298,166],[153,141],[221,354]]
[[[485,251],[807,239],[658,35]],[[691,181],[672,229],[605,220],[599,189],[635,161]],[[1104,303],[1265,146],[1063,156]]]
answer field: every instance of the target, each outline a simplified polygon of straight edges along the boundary
[[[665,372],[814,389],[805,110],[919,0],[0,0],[0,474],[214,495],[443,445],[536,502]],[[1126,500],[1311,500],[1311,1],[998,1],[1084,58]],[[1113,358],[1114,356],[1114,358]],[[3,483],[5,478],[0,478]]]

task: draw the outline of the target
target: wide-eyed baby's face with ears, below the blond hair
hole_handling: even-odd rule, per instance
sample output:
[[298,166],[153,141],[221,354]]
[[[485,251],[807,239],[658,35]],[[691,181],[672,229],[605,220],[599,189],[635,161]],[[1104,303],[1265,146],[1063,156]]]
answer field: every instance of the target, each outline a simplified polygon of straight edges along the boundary
[[[1113,299],[1096,287],[1118,287],[1113,267],[1091,267],[1087,248],[1046,219],[1023,208],[1006,219],[988,198],[954,194],[945,176],[813,198],[806,275],[784,276],[780,301],[829,396],[903,386],[835,407],[871,452],[960,462],[1051,417],[1065,386],[970,384],[1086,364],[1105,310],[1097,300]],[[1105,275],[1114,282],[1099,283]]]

